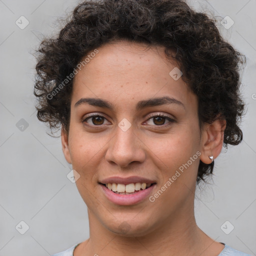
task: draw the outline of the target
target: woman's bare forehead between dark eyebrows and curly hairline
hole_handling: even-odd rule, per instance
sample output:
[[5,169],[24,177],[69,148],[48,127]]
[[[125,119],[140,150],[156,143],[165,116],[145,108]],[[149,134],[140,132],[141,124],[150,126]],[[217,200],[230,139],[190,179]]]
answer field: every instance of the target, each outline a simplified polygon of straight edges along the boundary
[[169,74],[179,69],[174,60],[166,58],[162,46],[121,41],[97,50],[74,77],[72,104],[81,97],[128,103],[131,99],[170,96],[184,104],[194,97],[181,77],[174,79]]

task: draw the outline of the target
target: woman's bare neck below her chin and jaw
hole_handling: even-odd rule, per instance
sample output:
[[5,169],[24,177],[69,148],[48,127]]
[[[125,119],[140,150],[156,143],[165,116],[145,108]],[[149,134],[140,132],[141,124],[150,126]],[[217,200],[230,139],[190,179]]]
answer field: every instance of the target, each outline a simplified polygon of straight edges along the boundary
[[161,256],[200,254],[203,256],[217,255],[216,250],[220,252],[223,248],[223,245],[214,242],[198,228],[194,218],[193,206],[189,209],[181,209],[165,220],[161,219],[161,223],[155,223],[151,230],[145,234],[137,235],[134,231],[129,236],[110,231],[89,210],[88,216],[90,238],[80,246],[79,249],[82,253],[79,253],[77,246],[75,256],[126,256],[131,254],[133,256],[150,254]]

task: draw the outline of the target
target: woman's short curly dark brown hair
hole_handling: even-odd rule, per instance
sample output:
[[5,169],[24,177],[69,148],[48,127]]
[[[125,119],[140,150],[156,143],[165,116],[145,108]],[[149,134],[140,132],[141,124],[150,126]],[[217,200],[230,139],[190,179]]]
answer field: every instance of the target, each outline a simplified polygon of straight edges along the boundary
[[[239,70],[245,56],[222,38],[216,21],[183,0],[81,2],[58,35],[44,39],[37,50],[34,94],[38,119],[48,122],[51,131],[61,126],[68,133],[73,79],[54,93],[57,86],[96,47],[125,39],[164,46],[166,56],[176,59],[182,79],[197,95],[200,124],[225,119],[224,146],[238,144],[244,109]],[[175,49],[175,56],[170,49]],[[213,165],[200,161],[197,183],[212,173]]]

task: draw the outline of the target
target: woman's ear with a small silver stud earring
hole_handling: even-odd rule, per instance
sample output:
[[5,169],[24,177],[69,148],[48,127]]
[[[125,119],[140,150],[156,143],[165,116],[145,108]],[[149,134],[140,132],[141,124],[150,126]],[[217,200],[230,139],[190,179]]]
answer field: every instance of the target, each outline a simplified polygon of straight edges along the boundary
[[203,163],[211,163],[221,152],[225,127],[225,119],[216,119],[211,124],[204,123],[201,131],[200,151],[200,160]]

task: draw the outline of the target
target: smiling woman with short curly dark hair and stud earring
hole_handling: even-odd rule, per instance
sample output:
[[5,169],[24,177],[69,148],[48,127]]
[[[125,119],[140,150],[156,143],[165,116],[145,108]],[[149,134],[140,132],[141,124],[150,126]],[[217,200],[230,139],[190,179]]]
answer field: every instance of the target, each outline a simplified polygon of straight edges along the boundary
[[84,1],[39,48],[37,117],[61,127],[90,237],[60,255],[248,255],[196,225],[195,186],[238,144],[242,55],[182,0]]

